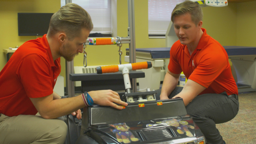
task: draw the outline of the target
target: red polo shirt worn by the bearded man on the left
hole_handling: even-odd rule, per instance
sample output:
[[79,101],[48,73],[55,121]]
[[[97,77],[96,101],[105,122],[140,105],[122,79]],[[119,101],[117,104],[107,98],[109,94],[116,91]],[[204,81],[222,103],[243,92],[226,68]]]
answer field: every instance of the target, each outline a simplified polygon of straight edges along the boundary
[[60,58],[53,60],[46,34],[22,44],[0,72],[0,114],[35,115],[30,98],[52,94],[59,74]]

